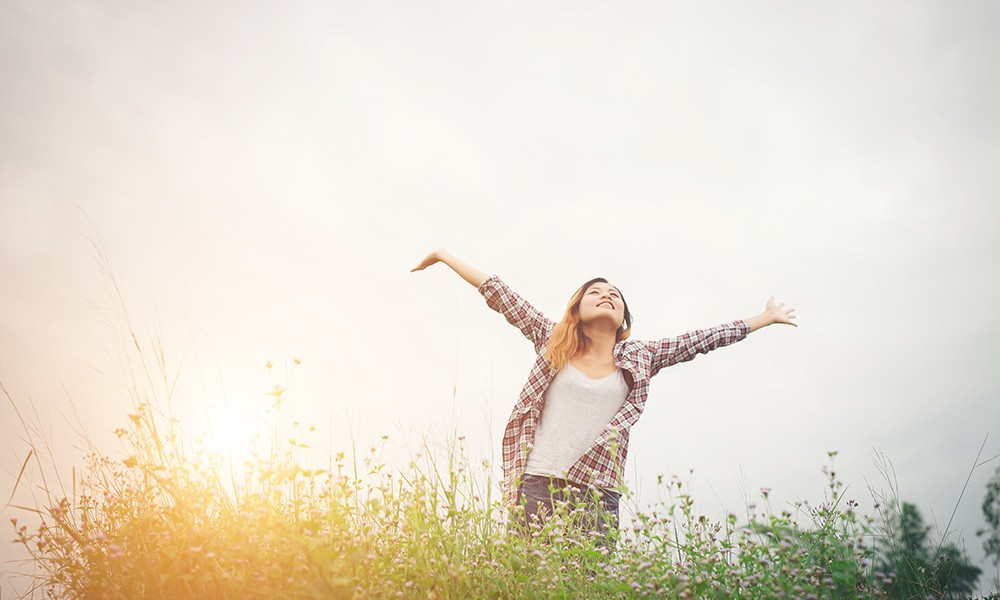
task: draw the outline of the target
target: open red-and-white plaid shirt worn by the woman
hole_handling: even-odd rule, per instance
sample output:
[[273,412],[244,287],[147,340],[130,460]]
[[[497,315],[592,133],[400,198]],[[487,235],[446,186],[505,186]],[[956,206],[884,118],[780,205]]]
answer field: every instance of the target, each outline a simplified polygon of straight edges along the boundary
[[[512,504],[535,440],[545,390],[556,376],[545,359],[546,342],[555,323],[518,296],[493,275],[479,287],[486,304],[502,314],[535,345],[535,364],[510,413],[503,434],[503,491]],[[732,321],[710,329],[690,331],[675,338],[653,341],[622,340],[615,344],[615,366],[627,372],[631,389],[625,403],[583,456],[570,467],[566,479],[583,486],[617,488],[625,472],[628,436],[646,406],[649,380],[660,369],[693,359],[698,354],[738,342],[750,333],[745,321]]]

